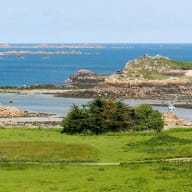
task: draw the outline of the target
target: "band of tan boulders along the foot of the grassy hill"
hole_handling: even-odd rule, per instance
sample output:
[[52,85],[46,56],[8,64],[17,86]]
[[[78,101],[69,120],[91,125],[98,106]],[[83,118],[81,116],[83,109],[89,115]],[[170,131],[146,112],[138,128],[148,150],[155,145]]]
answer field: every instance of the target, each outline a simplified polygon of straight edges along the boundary
[[[107,82],[109,89],[123,97],[162,98],[163,95],[188,95],[192,93],[192,81],[187,80],[138,80]],[[192,97],[191,97],[192,99]]]

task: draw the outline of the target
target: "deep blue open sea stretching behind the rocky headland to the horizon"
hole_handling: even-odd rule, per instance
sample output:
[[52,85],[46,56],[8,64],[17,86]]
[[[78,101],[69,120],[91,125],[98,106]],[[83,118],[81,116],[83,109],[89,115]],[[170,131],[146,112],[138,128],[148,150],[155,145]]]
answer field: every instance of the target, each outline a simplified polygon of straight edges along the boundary
[[144,54],[160,54],[174,60],[192,61],[192,44],[100,44],[104,48],[0,48],[2,51],[81,51],[99,52],[99,55],[15,55],[0,56],[0,86],[31,84],[62,85],[70,75],[80,69],[109,74],[123,69],[126,62]]

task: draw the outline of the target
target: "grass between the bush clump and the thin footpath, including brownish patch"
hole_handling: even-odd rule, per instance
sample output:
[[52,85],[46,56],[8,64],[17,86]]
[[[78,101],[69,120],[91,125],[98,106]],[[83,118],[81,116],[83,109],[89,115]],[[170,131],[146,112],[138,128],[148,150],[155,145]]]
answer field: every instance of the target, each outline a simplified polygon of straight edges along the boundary
[[[111,133],[100,136],[66,135],[59,130],[0,129],[0,141],[2,161],[129,162],[192,157],[192,129],[166,131],[160,135]],[[22,150],[13,153],[14,142]]]

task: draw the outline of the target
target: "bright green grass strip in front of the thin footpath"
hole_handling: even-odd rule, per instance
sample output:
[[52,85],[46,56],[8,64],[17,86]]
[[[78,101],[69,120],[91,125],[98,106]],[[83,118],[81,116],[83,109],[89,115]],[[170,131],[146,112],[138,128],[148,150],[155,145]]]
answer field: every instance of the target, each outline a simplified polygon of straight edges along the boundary
[[4,165],[1,192],[183,192],[191,191],[191,163],[127,166]]

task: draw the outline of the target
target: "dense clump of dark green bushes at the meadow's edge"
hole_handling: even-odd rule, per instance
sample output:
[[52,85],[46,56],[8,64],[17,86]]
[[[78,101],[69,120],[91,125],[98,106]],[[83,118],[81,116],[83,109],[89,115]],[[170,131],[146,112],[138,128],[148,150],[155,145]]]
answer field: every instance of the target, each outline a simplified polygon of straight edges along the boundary
[[160,131],[163,125],[160,112],[150,105],[133,108],[121,101],[98,98],[81,108],[73,105],[63,118],[62,132],[101,134],[109,131]]

